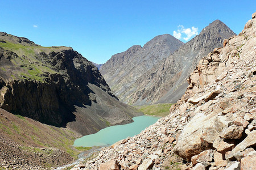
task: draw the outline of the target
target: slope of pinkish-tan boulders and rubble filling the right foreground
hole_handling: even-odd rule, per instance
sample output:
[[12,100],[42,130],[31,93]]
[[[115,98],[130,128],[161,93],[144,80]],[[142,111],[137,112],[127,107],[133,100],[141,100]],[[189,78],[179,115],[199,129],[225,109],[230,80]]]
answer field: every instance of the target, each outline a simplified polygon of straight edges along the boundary
[[72,169],[255,169],[255,15],[200,59],[168,116]]

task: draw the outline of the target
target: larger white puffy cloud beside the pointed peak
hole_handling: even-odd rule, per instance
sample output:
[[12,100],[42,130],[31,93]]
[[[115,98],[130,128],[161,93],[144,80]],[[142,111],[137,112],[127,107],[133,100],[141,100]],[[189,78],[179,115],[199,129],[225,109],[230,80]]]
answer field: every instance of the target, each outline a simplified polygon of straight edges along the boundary
[[174,31],[174,37],[179,40],[183,39],[188,41],[196,35],[198,35],[198,28],[196,27],[184,28],[183,25],[179,25],[177,31]]

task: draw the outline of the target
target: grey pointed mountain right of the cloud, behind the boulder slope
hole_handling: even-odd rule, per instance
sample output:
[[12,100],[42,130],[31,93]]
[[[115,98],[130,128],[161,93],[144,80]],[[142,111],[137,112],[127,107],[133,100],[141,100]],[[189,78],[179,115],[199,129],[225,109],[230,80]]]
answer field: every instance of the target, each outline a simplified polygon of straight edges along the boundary
[[[127,90],[134,93],[126,96],[124,102],[135,105],[176,103],[184,94],[188,86],[186,79],[199,59],[221,47],[224,39],[234,35],[220,20],[210,23],[199,35],[139,77],[133,88]],[[115,94],[118,93],[115,91]]]

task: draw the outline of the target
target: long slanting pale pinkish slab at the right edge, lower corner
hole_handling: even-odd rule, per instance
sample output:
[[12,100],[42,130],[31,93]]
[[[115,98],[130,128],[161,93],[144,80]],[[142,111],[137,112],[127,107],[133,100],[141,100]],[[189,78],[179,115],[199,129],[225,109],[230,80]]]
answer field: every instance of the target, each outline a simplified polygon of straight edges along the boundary
[[232,160],[234,158],[234,154],[236,154],[236,152],[243,151],[250,146],[256,145],[255,139],[256,139],[256,130],[253,130],[253,131],[251,131],[251,133],[249,135],[247,135],[247,137],[245,139],[243,139],[242,142],[240,142],[236,147],[234,147],[232,152],[230,152],[230,154],[229,154],[229,159]]

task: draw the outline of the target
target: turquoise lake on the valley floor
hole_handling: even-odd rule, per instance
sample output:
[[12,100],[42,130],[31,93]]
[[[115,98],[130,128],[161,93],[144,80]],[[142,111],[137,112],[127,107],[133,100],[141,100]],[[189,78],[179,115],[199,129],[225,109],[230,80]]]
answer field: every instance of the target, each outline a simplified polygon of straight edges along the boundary
[[97,133],[86,135],[76,139],[74,146],[92,147],[108,146],[127,137],[133,137],[141,133],[142,130],[154,124],[160,117],[138,116],[134,117],[131,124],[110,126],[101,129]]

